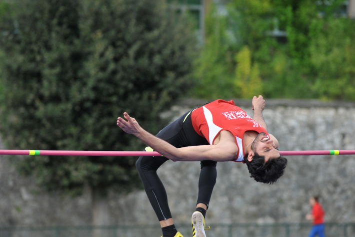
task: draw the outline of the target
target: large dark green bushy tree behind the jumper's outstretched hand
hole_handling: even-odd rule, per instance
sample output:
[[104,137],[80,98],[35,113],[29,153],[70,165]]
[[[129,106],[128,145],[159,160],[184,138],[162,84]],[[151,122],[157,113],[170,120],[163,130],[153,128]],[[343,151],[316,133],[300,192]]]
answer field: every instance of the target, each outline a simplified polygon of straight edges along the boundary
[[[164,1],[15,0],[0,19],[1,134],[9,149],[141,150],[126,111],[152,132],[190,86],[188,24]],[[38,185],[93,200],[140,187],[133,157],[25,157]],[[94,223],[102,224],[100,221]],[[107,224],[107,222],[105,222]]]

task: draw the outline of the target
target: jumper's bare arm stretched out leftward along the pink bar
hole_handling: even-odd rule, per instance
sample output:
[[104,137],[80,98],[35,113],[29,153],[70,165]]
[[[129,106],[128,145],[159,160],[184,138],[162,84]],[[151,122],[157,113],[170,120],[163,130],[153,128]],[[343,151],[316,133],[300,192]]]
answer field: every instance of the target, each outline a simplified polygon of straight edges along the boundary
[[123,116],[126,120],[118,117],[117,126],[119,126],[124,132],[136,136],[159,154],[172,161],[231,161],[235,159],[236,154],[238,153],[235,139],[228,131],[221,131],[213,145],[176,148],[145,131],[139,126],[138,122],[134,118],[131,118],[127,113],[123,113]]

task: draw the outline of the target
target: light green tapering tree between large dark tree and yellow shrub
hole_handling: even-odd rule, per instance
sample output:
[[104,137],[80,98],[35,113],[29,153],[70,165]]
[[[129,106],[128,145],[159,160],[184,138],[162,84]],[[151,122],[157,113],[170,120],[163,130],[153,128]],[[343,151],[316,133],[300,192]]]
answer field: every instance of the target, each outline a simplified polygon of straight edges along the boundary
[[218,16],[216,6],[212,5],[205,19],[205,42],[194,62],[193,97],[235,96],[230,90],[234,80],[234,55],[230,47],[234,45],[234,40],[226,32],[227,23],[227,18]]

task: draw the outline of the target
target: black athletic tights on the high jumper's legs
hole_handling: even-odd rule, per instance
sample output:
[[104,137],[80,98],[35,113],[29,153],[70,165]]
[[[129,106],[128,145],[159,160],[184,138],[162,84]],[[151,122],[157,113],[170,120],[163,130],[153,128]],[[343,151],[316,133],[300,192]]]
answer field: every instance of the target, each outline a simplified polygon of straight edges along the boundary
[[[207,140],[194,131],[190,113],[191,111],[167,125],[156,134],[156,137],[161,138],[175,147],[208,145]],[[135,163],[145,192],[159,221],[171,218],[165,188],[156,174],[156,170],[166,160],[168,159],[163,156],[140,156]],[[200,164],[201,170],[198,181],[197,203],[204,203],[208,207],[217,177],[217,162],[204,160],[201,161]]]

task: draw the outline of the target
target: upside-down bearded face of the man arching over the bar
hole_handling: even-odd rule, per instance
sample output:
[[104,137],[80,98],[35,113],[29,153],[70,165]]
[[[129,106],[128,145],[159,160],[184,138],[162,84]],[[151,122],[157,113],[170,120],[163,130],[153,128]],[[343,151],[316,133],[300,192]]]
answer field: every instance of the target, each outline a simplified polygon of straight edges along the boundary
[[251,150],[260,156],[265,157],[265,162],[280,156],[275,143],[266,133],[259,133],[251,144]]

